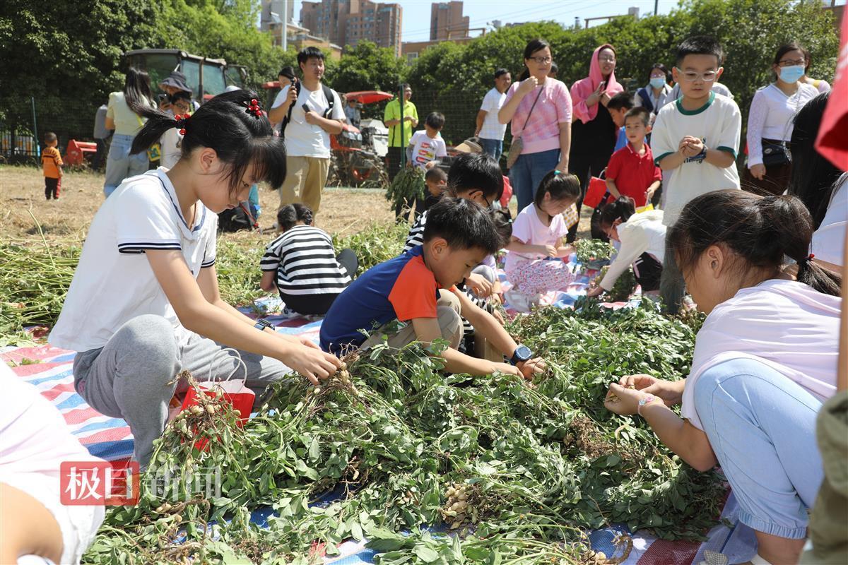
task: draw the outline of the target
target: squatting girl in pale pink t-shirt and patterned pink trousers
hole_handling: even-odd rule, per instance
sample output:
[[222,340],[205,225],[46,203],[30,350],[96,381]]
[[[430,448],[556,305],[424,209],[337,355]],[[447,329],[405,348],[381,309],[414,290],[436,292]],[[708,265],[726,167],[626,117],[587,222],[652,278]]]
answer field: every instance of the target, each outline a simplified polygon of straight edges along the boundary
[[533,204],[524,208],[512,224],[506,249],[506,278],[516,291],[538,302],[547,291],[566,290],[574,275],[560,259],[572,253],[564,246],[568,233],[562,217],[580,197],[580,180],[573,174],[552,170],[539,183]]

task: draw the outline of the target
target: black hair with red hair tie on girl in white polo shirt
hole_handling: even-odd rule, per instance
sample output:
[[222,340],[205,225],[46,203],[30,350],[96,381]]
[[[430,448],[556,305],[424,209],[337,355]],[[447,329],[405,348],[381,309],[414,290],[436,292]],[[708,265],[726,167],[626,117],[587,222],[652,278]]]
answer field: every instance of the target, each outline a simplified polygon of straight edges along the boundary
[[186,130],[181,154],[190,155],[198,147],[215,149],[228,165],[226,179],[230,194],[243,190],[243,176],[252,168],[253,181],[265,181],[279,188],[286,178],[286,146],[283,137],[275,137],[271,122],[264,114],[249,111],[259,95],[250,90],[223,92],[204,103],[185,120],[149,106],[130,105],[136,114],[148,119],[132,141],[131,153],[147,151],[171,128]]

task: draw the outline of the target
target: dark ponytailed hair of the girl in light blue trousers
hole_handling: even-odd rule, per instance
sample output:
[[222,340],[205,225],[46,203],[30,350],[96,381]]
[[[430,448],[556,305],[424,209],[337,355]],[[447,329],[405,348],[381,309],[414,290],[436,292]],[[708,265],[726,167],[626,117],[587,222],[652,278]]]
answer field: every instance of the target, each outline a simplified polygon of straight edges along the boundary
[[810,212],[796,197],[728,190],[689,202],[667,231],[666,241],[683,270],[692,269],[709,246],[720,245],[744,261],[745,269],[777,274],[788,257],[798,264],[797,280],[823,294],[840,296],[840,276],[810,256],[812,231]]

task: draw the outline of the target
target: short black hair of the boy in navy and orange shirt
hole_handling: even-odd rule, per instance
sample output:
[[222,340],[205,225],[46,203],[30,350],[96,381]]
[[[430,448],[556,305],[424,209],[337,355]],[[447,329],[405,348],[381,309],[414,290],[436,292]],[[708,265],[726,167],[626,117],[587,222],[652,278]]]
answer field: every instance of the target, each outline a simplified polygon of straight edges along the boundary
[[500,249],[500,235],[492,216],[477,202],[442,197],[427,210],[424,243],[441,237],[456,249],[483,249],[491,254]]

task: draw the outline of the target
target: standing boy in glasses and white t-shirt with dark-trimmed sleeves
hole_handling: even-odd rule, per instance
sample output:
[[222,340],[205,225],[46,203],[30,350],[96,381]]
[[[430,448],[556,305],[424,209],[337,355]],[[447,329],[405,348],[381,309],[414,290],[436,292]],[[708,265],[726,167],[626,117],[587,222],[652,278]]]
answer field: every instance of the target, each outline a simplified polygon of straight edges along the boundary
[[[655,162],[668,177],[662,220],[667,226],[678,221],[693,198],[739,188],[742,114],[736,102],[711,89],[724,70],[722,58],[722,46],[713,37],[689,37],[678,46],[672,75],[682,97],[660,110],[651,134]],[[660,294],[669,313],[677,313],[684,288],[674,253],[667,252]]]

